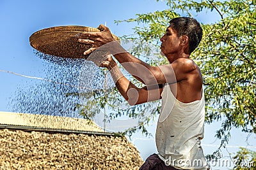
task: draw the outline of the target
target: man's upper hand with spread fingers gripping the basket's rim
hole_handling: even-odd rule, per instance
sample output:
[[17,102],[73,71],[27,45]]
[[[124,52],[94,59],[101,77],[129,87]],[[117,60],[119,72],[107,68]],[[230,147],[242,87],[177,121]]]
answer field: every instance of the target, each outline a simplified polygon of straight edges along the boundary
[[115,38],[113,38],[108,27],[100,24],[97,29],[99,29],[100,32],[84,32],[78,36],[79,43],[92,45],[92,48],[86,50],[84,55],[92,53],[94,50],[106,43],[115,41]]

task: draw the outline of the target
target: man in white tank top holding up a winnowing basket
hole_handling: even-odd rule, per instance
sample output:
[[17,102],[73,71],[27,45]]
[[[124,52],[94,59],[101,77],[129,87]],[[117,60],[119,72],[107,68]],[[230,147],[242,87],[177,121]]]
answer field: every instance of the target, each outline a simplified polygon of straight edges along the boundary
[[204,138],[204,92],[200,69],[189,59],[202,39],[200,24],[188,17],[173,18],[161,40],[161,53],[170,64],[150,66],[126,52],[115,43],[108,27],[100,32],[81,34],[79,42],[91,44],[88,54],[104,46],[136,79],[145,84],[138,88],[108,57],[101,63],[107,67],[120,94],[129,104],[141,104],[162,99],[157,122],[156,145],[153,154],[140,169],[208,169],[200,140]]

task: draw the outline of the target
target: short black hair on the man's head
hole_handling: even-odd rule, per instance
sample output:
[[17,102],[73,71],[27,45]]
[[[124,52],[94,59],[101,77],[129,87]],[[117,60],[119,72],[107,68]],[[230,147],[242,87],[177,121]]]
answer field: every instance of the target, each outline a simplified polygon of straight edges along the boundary
[[183,35],[188,36],[189,53],[192,53],[199,45],[203,36],[203,29],[197,20],[189,17],[178,17],[170,20],[170,24],[177,31],[179,37]]

